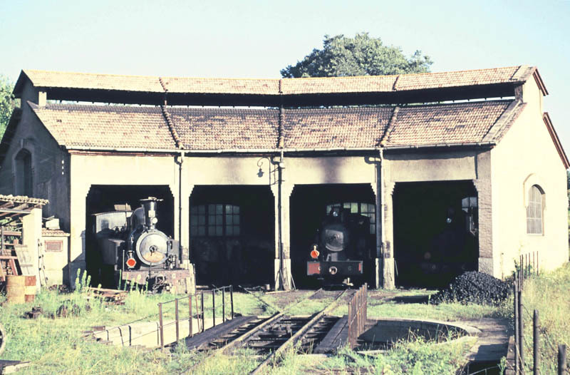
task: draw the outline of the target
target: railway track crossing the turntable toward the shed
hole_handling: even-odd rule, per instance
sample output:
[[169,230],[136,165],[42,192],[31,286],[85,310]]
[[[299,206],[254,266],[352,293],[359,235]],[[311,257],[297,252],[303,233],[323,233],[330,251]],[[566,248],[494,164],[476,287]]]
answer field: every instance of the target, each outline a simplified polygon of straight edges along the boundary
[[[321,292],[323,289],[318,289],[306,299],[317,298]],[[213,334],[211,339],[204,337],[203,340],[197,341],[195,346],[189,347],[199,351],[208,351],[209,356],[220,352],[231,354],[240,348],[250,349],[264,358],[264,361],[261,361],[257,369],[251,373],[259,374],[274,356],[295,344],[299,344],[299,350],[304,353],[309,353],[316,348],[340,319],[326,314],[341,302],[341,297],[352,292],[347,289],[339,292],[331,304],[310,317],[293,317],[287,314],[292,307],[306,299],[286,307],[283,312],[274,314],[269,318],[242,317],[242,320],[237,320],[235,327],[233,329],[230,327],[226,333],[220,334],[218,337],[213,337],[215,335]]]

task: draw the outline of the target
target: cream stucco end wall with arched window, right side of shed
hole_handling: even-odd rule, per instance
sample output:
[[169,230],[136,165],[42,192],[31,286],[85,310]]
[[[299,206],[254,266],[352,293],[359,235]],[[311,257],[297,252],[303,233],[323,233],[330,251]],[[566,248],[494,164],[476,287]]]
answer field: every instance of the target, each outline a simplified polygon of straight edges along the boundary
[[[568,260],[566,170],[542,120],[534,81],[523,88],[524,111],[491,152],[494,276],[507,276],[520,254],[539,252],[544,269]],[[545,194],[544,234],[527,234],[527,199],[537,184]]]

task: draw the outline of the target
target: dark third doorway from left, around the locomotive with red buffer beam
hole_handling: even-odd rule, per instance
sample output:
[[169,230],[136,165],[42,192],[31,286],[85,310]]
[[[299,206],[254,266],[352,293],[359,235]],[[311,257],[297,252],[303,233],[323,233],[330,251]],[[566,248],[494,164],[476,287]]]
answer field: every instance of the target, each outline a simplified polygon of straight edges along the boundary
[[[295,185],[291,193],[291,275],[296,287],[316,287],[314,277],[307,276],[306,262],[311,246],[317,240],[321,227],[332,207],[342,207],[351,213],[369,218],[366,234],[368,251],[363,257],[363,277],[355,282],[373,282],[376,248],[375,195],[370,184]],[[324,280],[326,282],[326,280]]]

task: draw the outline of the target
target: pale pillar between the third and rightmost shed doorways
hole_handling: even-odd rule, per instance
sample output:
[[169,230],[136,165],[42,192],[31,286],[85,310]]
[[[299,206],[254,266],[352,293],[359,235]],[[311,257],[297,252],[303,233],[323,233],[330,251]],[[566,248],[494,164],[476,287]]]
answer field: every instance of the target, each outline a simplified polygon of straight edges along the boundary
[[393,228],[393,194],[395,183],[383,182],[384,197],[384,242],[382,246],[382,286],[385,289],[395,288],[395,264],[394,264],[394,228]]

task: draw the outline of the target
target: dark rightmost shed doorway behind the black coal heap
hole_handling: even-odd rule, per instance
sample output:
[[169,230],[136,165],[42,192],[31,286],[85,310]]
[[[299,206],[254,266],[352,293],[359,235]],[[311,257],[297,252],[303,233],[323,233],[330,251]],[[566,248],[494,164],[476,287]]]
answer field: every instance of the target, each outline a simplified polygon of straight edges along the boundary
[[445,287],[478,268],[477,191],[471,181],[396,183],[396,285]]

